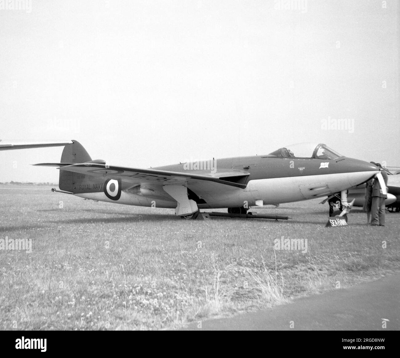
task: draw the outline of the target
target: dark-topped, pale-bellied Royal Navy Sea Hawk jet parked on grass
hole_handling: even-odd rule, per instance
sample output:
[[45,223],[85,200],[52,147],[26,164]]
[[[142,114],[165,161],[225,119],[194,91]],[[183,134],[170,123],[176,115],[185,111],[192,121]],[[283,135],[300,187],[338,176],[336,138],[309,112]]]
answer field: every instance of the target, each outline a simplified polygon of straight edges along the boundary
[[[196,218],[199,209],[228,208],[308,200],[366,182],[379,168],[352,159],[325,144],[300,143],[262,156],[186,162],[140,169],[92,160],[76,140],[64,147],[59,163],[34,164],[60,170],[64,193],[105,202],[175,208]],[[346,198],[342,196],[346,204]]]

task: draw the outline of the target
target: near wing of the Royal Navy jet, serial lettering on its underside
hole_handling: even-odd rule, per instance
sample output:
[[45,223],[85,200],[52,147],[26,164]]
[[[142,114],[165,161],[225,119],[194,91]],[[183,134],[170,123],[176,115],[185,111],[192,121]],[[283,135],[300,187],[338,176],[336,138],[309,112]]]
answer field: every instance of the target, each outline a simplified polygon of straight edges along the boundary
[[[66,165],[67,164],[67,165]],[[107,164],[95,163],[42,163],[34,164],[36,166],[60,166],[60,170],[80,173],[101,178],[120,179],[123,182],[135,184],[153,184],[153,185],[184,185],[203,187],[206,182],[223,184],[225,188],[246,188],[245,181],[250,173],[243,170],[221,170],[216,173],[196,174],[195,171],[170,172],[158,169],[139,169],[127,168],[122,166],[108,166]]]

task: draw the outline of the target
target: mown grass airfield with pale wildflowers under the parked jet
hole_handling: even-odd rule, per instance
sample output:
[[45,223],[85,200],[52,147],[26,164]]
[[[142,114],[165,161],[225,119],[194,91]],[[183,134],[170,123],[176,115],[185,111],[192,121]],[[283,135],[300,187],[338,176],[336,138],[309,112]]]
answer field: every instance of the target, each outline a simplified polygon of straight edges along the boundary
[[[400,214],[367,226],[355,208],[350,226],[325,228],[319,201],[252,210],[288,221],[194,221],[0,185],[0,239],[32,239],[31,253],[0,250],[0,329],[178,328],[400,270]],[[274,250],[281,236],[307,239],[307,252]]]

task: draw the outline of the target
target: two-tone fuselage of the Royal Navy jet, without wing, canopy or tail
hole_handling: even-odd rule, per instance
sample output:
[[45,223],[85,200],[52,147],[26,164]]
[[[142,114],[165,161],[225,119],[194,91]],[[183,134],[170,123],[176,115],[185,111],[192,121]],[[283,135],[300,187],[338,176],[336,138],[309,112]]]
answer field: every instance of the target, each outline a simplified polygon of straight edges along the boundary
[[[195,168],[196,165],[183,163],[152,169],[195,174],[210,174],[214,170],[217,173],[241,170],[250,174],[237,179],[238,182],[246,184],[246,188],[221,190],[220,194],[215,189],[207,192],[207,183],[204,183],[201,196],[194,193],[199,208],[240,207],[244,203],[250,207],[256,205],[256,200],[262,200],[266,205],[318,198],[361,184],[378,172],[372,164],[347,157],[321,160],[276,158],[268,155],[212,160],[211,168]],[[122,180],[120,198],[113,200],[104,193],[105,181],[80,174],[81,182],[76,187],[75,195],[120,204],[175,208],[176,201],[157,184],[157,178],[154,177],[152,185],[149,184],[152,175],[145,176],[146,184],[141,186],[132,186],[131,183]],[[174,184],[184,185],[184,180]],[[190,186],[188,188],[190,189]]]

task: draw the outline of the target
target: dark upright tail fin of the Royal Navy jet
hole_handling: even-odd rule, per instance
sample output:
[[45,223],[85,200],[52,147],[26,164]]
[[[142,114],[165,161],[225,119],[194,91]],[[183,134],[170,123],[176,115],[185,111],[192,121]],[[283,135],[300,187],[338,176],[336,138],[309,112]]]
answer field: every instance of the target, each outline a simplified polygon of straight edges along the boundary
[[[82,144],[80,144],[77,140],[72,140],[73,144],[68,144],[64,147],[64,150],[61,154],[61,163],[84,163],[90,162],[92,158],[86,149],[83,148]],[[76,183],[81,182],[82,178],[78,178],[78,176],[82,176],[81,174],[67,172],[66,170],[60,170],[60,179],[58,181],[58,186],[60,190],[65,190],[67,192],[76,193]]]

